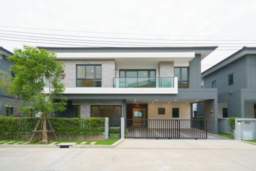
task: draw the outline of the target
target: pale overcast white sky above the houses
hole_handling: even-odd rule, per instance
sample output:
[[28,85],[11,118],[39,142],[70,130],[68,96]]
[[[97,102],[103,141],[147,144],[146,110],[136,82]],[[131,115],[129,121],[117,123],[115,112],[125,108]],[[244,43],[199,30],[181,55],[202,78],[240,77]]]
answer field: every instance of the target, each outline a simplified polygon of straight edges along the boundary
[[242,46],[256,46],[256,0],[4,0],[0,4],[0,46],[10,51],[23,44],[218,45],[201,61],[204,71]]

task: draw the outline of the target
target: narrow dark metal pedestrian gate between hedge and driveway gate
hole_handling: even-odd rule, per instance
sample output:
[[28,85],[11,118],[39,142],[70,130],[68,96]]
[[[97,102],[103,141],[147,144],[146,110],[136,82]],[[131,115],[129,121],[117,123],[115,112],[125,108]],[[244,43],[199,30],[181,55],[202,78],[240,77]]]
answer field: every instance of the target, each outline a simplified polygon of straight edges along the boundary
[[121,120],[108,119],[108,137],[121,138]]

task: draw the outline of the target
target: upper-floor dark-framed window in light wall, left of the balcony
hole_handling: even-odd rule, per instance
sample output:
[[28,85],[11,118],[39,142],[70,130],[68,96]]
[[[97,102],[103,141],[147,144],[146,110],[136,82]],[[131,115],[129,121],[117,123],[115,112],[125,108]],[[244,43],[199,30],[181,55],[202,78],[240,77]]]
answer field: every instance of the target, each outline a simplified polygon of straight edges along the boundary
[[101,87],[101,65],[76,65],[76,87],[84,86]]

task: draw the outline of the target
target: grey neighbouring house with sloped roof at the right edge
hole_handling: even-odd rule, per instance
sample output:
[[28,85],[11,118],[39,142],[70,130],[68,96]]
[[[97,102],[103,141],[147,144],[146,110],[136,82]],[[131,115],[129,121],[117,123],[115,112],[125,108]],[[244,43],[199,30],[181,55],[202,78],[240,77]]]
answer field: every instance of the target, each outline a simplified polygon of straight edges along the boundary
[[202,80],[203,88],[217,88],[218,117],[256,118],[256,47],[218,62],[202,72]]

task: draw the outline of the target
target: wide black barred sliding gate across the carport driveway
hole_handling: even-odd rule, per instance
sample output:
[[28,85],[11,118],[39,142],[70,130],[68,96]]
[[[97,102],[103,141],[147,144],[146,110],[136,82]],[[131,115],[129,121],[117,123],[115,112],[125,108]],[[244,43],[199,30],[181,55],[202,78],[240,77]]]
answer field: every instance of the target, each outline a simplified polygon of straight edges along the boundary
[[201,119],[124,119],[127,138],[207,138]]

